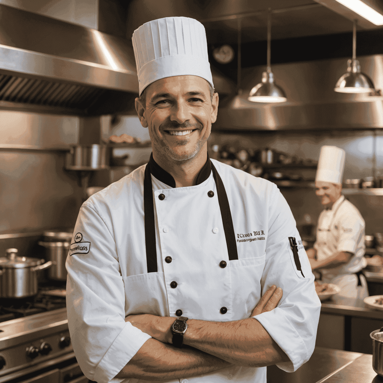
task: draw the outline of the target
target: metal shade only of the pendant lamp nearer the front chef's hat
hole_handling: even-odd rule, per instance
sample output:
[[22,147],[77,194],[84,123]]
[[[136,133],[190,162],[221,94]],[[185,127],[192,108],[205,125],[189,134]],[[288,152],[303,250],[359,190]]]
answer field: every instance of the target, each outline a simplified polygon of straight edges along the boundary
[[250,90],[247,100],[252,102],[285,102],[286,94],[274,83],[273,73],[263,72],[262,82]]

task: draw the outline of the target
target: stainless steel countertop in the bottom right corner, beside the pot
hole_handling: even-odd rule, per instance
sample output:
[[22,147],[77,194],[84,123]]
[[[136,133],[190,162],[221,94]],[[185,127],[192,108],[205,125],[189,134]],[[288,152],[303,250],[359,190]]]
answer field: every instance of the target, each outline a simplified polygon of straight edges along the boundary
[[[380,380],[381,379],[381,380]],[[372,355],[315,347],[310,360],[292,373],[267,367],[268,383],[383,382],[372,368]]]

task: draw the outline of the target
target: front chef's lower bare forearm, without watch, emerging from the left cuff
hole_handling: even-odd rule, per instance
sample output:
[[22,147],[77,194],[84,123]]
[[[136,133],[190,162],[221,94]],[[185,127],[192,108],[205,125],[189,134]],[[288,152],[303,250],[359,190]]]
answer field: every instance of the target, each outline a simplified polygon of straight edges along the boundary
[[148,339],[117,378],[173,380],[206,374],[231,364],[194,349],[176,349],[156,339]]

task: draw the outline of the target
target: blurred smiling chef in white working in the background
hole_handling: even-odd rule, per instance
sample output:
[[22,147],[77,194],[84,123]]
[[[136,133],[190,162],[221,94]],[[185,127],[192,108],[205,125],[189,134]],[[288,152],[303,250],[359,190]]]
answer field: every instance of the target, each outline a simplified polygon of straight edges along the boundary
[[367,283],[360,272],[366,266],[365,223],[358,209],[342,195],[345,152],[336,146],[322,146],[315,178],[316,195],[325,207],[318,219],[316,242],[307,250],[313,270],[322,281],[340,287],[334,300],[368,296]]

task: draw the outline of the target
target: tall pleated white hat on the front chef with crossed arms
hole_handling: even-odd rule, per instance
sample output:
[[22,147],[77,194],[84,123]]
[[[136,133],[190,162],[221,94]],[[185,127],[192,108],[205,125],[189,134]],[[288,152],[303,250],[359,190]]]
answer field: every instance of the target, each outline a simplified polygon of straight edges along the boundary
[[149,21],[132,36],[139,94],[165,77],[195,75],[214,88],[208,59],[205,27],[188,17]]

